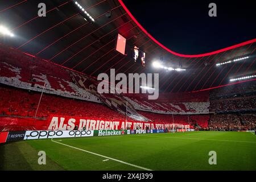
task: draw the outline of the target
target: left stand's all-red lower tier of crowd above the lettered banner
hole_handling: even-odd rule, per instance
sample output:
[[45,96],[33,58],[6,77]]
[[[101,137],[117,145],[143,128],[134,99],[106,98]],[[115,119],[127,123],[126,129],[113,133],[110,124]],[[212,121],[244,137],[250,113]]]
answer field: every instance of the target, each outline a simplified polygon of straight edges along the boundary
[[[1,85],[1,115],[34,117],[40,93]],[[40,102],[37,117],[47,118],[50,114],[70,115],[98,119],[111,118],[113,121],[125,119],[125,115],[94,102],[86,102],[65,97],[44,94]]]

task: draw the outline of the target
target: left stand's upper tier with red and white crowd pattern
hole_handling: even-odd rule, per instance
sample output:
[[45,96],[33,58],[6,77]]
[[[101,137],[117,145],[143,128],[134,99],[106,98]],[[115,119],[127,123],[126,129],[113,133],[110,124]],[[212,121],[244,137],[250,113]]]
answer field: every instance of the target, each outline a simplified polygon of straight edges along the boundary
[[74,84],[67,69],[2,45],[0,45],[0,56],[2,84],[42,92],[45,82],[46,93],[100,102],[93,94]]

